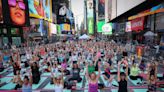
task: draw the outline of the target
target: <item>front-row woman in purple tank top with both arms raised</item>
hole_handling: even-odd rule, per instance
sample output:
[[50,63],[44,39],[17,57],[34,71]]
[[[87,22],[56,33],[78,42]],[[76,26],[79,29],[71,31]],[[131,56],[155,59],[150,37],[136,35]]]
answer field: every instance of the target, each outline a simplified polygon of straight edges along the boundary
[[100,78],[100,62],[98,63],[98,75],[95,72],[89,74],[88,73],[88,64],[86,64],[86,76],[89,84],[88,92],[98,92],[98,80]]

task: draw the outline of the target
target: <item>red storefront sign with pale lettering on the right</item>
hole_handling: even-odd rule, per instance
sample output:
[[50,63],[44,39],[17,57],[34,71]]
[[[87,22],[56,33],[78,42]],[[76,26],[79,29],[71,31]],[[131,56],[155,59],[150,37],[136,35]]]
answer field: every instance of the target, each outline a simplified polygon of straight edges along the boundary
[[144,17],[137,18],[131,21],[131,29],[134,31],[140,31],[144,29]]

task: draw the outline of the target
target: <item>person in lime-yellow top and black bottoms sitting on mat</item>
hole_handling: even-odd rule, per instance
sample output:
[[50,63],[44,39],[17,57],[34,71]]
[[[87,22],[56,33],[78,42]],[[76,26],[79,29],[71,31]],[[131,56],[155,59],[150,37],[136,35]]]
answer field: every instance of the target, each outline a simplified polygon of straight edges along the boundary
[[[131,80],[137,80],[137,79],[140,79],[141,81],[143,80],[143,78],[141,76],[139,76],[139,67],[137,67],[136,65],[136,62],[133,61],[132,62],[132,66],[130,68],[130,79]],[[137,83],[137,84],[140,84],[140,83]]]

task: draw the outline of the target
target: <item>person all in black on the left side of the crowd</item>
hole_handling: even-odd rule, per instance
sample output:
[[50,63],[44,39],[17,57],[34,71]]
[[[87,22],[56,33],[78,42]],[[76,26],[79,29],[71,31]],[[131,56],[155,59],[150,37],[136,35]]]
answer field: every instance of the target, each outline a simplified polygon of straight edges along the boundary
[[39,66],[37,65],[36,62],[32,64],[31,70],[32,70],[32,79],[34,79],[33,84],[38,84],[40,81],[40,72],[39,72]]

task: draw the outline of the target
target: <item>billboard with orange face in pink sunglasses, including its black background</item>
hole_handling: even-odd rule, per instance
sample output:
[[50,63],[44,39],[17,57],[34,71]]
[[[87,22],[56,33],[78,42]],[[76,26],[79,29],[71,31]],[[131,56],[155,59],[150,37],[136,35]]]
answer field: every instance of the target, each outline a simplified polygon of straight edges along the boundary
[[3,3],[4,22],[14,26],[29,24],[28,6],[26,0],[1,0]]

